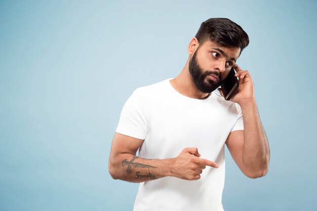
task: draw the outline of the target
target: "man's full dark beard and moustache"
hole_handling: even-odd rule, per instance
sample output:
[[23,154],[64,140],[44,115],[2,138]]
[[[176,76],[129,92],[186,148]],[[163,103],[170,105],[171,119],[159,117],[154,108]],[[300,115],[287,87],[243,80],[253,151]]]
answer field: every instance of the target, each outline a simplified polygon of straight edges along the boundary
[[[189,61],[189,73],[191,75],[191,78],[193,79],[196,88],[201,91],[202,93],[211,93],[214,90],[216,90],[221,82],[221,74],[217,71],[205,71],[203,73],[202,68],[200,67],[200,65],[197,62],[196,59],[196,53],[198,50],[195,51],[195,53],[192,55],[191,60]],[[207,79],[207,82],[205,82],[205,79],[208,75],[211,74],[215,74],[218,76],[219,80],[217,82],[211,80],[211,79]]]

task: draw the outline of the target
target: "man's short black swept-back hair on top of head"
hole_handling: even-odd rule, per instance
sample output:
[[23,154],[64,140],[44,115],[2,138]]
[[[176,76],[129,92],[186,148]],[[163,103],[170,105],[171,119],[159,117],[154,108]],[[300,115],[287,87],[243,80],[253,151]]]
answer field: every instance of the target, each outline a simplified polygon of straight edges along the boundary
[[204,21],[195,37],[200,46],[205,41],[214,41],[222,47],[240,48],[240,54],[249,45],[248,34],[227,18],[210,18]]

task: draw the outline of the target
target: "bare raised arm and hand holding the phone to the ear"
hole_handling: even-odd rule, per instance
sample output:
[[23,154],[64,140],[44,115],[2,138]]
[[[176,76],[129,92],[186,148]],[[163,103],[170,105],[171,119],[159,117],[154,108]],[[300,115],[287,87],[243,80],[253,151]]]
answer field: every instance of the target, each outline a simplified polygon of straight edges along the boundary
[[[226,145],[240,170],[249,178],[263,177],[268,172],[269,146],[254,99],[253,81],[248,71],[239,66],[235,76],[239,77],[239,89],[230,99],[240,105],[244,120],[244,131],[229,134]],[[219,90],[221,95],[222,91]]]

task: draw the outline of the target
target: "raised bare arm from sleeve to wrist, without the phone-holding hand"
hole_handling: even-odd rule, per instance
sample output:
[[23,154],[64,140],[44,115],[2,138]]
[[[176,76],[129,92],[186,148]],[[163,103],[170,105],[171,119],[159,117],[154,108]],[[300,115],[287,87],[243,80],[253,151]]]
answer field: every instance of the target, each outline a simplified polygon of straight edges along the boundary
[[229,134],[226,145],[239,166],[249,178],[263,177],[268,172],[269,147],[260,117],[253,102],[242,108],[244,131]]

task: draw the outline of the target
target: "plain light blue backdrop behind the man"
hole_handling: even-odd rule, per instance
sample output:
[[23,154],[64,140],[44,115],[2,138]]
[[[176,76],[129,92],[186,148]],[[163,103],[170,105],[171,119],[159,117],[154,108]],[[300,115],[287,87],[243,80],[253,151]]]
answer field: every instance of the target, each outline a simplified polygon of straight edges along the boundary
[[316,1],[0,1],[0,209],[132,210],[138,184],[108,173],[122,106],[179,74],[210,17],[249,34],[271,150],[255,180],[226,150],[224,209],[315,210]]

